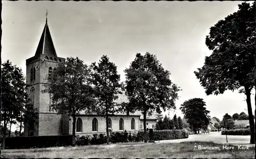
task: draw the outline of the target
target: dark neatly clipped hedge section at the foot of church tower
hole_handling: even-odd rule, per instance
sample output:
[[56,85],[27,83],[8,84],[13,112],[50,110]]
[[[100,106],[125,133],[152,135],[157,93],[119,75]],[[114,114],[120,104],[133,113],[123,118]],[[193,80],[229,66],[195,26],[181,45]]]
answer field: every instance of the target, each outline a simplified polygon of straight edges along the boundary
[[6,149],[44,148],[72,145],[72,135],[12,137],[5,139]]

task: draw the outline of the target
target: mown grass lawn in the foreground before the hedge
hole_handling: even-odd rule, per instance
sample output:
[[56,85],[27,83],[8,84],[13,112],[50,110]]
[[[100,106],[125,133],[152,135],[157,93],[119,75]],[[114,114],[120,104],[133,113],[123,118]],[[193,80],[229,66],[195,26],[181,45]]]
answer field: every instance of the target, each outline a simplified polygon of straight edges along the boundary
[[[223,149],[223,144],[196,142],[204,147],[220,149],[200,150],[195,142],[182,143],[147,143],[139,145],[96,145],[77,147],[53,147],[41,149],[2,150],[2,157],[7,158],[254,158],[254,147],[247,150]],[[226,146],[226,145],[224,145]]]

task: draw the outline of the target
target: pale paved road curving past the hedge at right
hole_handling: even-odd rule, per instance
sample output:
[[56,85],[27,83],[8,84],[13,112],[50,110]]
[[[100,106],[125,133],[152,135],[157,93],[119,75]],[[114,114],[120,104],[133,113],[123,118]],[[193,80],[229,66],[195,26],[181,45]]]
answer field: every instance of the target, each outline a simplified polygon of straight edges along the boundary
[[221,132],[210,132],[210,134],[201,134],[201,135],[189,135],[187,139],[177,139],[177,140],[162,140],[155,141],[156,143],[180,143],[186,141],[205,141],[205,142],[214,142],[219,144],[224,144],[228,141],[230,144],[249,144],[250,136],[233,136],[228,135],[227,141],[226,136],[221,135]]

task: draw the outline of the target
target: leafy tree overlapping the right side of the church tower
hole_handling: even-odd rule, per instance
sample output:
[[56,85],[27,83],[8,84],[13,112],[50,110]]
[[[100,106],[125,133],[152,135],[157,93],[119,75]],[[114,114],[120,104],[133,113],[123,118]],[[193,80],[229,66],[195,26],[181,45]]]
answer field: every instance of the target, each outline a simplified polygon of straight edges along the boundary
[[65,62],[58,64],[47,79],[43,93],[51,94],[51,106],[58,114],[67,113],[72,116],[72,145],[75,146],[76,116],[81,111],[90,113],[94,110],[90,69],[78,58],[67,58]]

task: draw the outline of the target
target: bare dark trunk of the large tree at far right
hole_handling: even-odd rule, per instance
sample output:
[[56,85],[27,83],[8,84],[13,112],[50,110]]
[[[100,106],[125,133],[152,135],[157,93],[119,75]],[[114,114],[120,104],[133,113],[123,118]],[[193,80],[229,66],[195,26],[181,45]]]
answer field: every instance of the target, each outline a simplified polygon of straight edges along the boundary
[[249,88],[245,87],[245,94],[246,94],[246,102],[247,102],[247,109],[248,109],[248,116],[249,116],[249,124],[250,124],[250,144],[254,144],[254,119],[252,115],[251,109],[251,91]]

